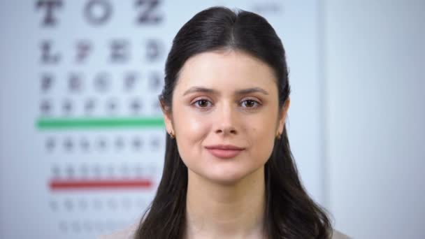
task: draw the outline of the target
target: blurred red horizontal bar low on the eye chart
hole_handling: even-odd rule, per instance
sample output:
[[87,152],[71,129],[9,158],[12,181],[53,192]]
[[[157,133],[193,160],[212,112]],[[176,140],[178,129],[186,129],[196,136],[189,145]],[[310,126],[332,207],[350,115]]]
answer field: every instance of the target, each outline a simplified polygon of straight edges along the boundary
[[152,180],[50,180],[50,190],[68,191],[78,189],[149,189]]

